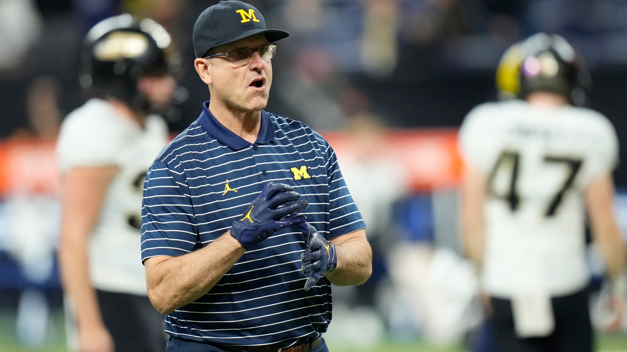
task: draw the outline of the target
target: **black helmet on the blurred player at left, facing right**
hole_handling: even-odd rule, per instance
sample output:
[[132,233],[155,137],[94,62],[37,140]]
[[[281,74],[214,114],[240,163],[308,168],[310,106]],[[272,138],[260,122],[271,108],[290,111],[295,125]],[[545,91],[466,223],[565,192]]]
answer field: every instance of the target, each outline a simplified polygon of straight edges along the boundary
[[103,19],[85,37],[80,85],[88,96],[112,97],[148,112],[150,103],[137,81],[175,71],[170,47],[166,29],[152,19],[138,23],[130,14]]

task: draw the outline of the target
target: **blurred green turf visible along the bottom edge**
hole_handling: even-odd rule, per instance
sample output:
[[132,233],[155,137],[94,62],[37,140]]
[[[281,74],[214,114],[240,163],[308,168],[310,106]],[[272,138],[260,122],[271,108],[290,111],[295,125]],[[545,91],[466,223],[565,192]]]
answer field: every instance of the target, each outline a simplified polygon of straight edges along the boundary
[[[68,352],[65,348],[63,314],[55,312],[51,316],[51,329],[48,344],[43,348],[28,348],[18,344],[14,337],[15,315],[0,312],[0,352]],[[466,346],[433,346],[422,342],[385,342],[369,348],[342,346],[329,342],[332,352],[463,352]],[[598,341],[598,351],[627,352],[627,335],[603,336]]]

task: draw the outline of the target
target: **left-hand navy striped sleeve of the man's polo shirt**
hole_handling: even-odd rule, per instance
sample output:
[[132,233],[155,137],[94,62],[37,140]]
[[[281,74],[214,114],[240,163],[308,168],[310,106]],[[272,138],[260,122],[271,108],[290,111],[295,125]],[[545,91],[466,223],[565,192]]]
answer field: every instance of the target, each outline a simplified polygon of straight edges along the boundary
[[196,217],[184,176],[166,163],[155,162],[144,182],[142,262],[192,252],[197,239]]

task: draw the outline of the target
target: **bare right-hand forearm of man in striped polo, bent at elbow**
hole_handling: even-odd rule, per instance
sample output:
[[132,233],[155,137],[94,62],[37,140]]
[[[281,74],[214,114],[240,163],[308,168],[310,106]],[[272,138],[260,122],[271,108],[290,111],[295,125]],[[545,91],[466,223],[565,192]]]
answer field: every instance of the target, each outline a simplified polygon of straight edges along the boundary
[[336,286],[361,285],[372,274],[372,249],[366,239],[336,245],[337,267],[325,276]]

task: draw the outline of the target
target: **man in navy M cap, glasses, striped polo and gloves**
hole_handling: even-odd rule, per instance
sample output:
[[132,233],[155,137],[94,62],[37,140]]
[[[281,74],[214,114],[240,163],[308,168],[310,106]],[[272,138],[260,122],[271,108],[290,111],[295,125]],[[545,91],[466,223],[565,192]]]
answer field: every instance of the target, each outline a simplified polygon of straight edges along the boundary
[[304,123],[262,110],[273,42],[287,36],[241,1],[211,6],[194,26],[211,101],[144,185],[142,261],[167,314],[167,351],[327,351],[330,284],[371,274],[334,151]]

